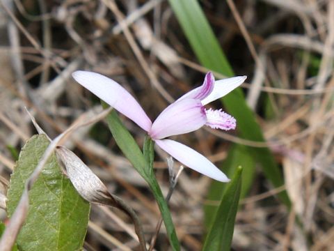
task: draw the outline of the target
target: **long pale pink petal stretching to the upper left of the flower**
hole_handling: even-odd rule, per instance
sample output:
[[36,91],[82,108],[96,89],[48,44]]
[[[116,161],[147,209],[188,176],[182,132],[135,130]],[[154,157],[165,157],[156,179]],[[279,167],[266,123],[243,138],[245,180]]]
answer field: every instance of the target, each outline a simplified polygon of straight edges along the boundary
[[120,84],[99,73],[83,70],[72,73],[72,77],[118,112],[134,121],[143,130],[147,132],[150,130],[152,121],[145,114],[141,105]]

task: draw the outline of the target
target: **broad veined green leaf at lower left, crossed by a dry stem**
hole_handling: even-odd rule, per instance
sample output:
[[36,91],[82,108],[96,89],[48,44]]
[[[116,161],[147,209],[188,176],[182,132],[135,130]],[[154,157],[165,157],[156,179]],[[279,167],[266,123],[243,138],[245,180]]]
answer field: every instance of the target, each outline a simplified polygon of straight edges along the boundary
[[[29,139],[10,177],[8,214],[11,216],[49,141],[45,135]],[[17,237],[20,250],[80,250],[86,236],[90,205],[61,173],[54,154],[29,191],[29,213]]]

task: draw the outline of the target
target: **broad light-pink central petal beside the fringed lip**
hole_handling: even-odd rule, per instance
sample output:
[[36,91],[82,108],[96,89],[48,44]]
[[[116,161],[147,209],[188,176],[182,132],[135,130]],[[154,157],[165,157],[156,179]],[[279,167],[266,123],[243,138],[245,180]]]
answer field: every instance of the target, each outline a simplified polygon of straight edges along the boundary
[[152,139],[164,139],[198,130],[206,121],[205,108],[200,100],[180,100],[173,102],[161,112],[148,134]]

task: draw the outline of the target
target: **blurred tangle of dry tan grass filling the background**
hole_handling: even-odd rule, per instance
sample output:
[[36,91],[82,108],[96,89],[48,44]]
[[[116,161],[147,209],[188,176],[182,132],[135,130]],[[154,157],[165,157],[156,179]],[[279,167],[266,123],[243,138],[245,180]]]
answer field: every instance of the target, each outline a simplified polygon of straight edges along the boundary
[[[238,121],[235,132],[205,129],[177,140],[217,166],[229,160],[230,142],[269,146],[285,176],[285,185],[273,189],[262,173],[254,174],[241,201],[232,249],[332,250],[334,2],[199,3],[234,73],[248,76],[243,92],[267,142],[242,139]],[[0,0],[1,181],[10,179],[19,149],[33,133],[33,118],[24,107],[35,116],[38,132],[52,139],[102,111],[97,98],[72,80],[74,70],[111,77],[135,96],[152,121],[173,98],[199,86],[209,69],[200,66],[184,34],[168,1]],[[221,108],[218,101],[210,105]],[[123,122],[141,146],[145,132]],[[66,140],[69,135],[71,140]],[[58,145],[75,152],[111,195],[126,198],[142,222],[145,238],[156,235],[154,247],[167,250],[164,228],[156,234],[159,210],[148,186],[120,153],[106,124],[100,121],[61,137],[56,138]],[[163,158],[157,149],[154,173],[166,196],[170,184]],[[185,169],[173,190],[169,204],[182,250],[201,249],[203,204],[218,204],[206,199],[210,182]],[[289,193],[294,211],[288,212],[275,199],[282,190]],[[0,195],[6,195],[1,183]],[[6,244],[13,243],[24,222],[26,197],[21,202],[8,225],[6,236],[11,237]],[[86,238],[90,250],[138,246],[124,213],[93,206],[90,219]]]

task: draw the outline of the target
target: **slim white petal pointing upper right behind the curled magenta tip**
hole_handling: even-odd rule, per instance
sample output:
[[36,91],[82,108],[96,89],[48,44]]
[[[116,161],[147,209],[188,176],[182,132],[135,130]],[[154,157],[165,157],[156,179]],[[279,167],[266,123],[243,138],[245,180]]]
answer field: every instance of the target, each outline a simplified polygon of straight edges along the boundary
[[230,77],[228,79],[221,79],[214,82],[214,90],[207,96],[207,98],[202,100],[202,105],[207,105],[209,102],[217,100],[230,93],[240,84],[244,83],[246,78],[246,76]]

